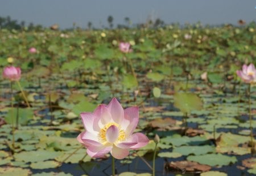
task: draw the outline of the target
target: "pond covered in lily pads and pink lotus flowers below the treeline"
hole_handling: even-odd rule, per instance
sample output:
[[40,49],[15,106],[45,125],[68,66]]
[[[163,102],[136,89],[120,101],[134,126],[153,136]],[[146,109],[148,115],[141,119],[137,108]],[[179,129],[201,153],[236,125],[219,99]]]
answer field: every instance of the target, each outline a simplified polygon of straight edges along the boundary
[[255,27],[1,29],[0,174],[256,174]]

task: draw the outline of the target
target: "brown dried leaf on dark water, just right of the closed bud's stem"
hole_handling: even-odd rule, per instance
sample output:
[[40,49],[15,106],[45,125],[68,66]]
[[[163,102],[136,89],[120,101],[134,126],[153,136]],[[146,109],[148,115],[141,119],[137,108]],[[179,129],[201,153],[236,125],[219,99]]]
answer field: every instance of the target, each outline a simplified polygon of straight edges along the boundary
[[176,161],[166,164],[164,168],[166,171],[179,171],[184,174],[209,171],[212,167],[193,161]]

